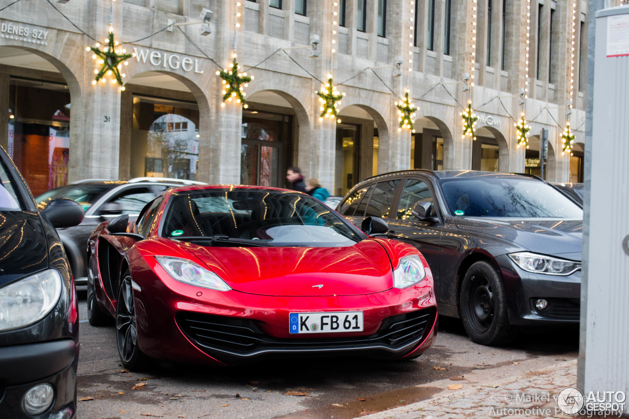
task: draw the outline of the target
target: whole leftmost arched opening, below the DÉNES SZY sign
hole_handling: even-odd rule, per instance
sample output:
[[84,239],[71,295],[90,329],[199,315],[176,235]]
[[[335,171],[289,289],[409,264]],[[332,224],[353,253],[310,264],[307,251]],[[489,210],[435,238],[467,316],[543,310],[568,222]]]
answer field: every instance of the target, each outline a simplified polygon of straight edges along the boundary
[[8,115],[1,143],[35,196],[67,184],[70,109],[81,111],[78,82],[62,62],[31,48],[0,47],[0,64],[0,91],[8,92],[0,103]]

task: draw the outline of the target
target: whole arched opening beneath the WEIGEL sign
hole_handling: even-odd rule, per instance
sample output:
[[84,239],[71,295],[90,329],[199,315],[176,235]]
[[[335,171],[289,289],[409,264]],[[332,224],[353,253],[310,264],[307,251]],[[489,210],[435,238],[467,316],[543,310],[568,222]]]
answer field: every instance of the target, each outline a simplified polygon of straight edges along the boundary
[[191,81],[165,72],[136,74],[125,84],[120,111],[121,179],[198,180],[199,94]]

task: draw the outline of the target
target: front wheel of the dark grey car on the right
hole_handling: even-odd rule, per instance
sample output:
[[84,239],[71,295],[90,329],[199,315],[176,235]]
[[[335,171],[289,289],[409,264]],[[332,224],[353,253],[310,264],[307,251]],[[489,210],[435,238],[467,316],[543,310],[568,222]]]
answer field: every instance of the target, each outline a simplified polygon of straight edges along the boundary
[[504,345],[518,334],[509,323],[502,276],[489,262],[476,262],[465,272],[459,308],[465,332],[477,344]]

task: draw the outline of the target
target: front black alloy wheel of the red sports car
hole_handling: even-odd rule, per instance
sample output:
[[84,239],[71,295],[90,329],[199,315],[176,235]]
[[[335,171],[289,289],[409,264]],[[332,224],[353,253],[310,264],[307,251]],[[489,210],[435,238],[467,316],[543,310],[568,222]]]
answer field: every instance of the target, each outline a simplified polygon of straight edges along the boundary
[[130,371],[138,371],[147,366],[148,357],[138,346],[138,332],[135,320],[135,303],[131,274],[126,271],[123,275],[118,301],[116,303],[116,344],[118,355],[123,366]]

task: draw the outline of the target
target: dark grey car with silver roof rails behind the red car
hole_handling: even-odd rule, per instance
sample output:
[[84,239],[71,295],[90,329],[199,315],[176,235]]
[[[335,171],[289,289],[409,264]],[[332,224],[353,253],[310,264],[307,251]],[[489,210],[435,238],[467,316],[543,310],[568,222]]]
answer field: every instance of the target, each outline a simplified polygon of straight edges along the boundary
[[118,215],[137,216],[148,201],[170,187],[203,184],[186,179],[136,177],[129,181],[85,179],[56,187],[35,197],[40,210],[50,199],[74,199],[83,207],[85,218],[81,224],[58,228],[57,232],[68,255],[76,285],[87,285],[87,238],[102,221]]

